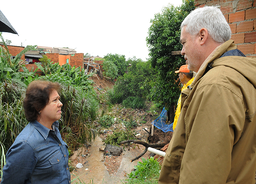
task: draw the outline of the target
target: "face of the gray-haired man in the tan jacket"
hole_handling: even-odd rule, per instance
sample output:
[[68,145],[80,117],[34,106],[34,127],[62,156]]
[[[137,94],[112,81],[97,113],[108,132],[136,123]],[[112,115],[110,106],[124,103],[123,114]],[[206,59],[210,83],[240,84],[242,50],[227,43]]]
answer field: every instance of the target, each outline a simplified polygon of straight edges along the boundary
[[181,55],[184,55],[188,69],[197,72],[202,64],[197,35],[186,32],[186,26],[181,29],[180,43],[182,44]]

